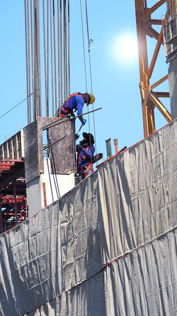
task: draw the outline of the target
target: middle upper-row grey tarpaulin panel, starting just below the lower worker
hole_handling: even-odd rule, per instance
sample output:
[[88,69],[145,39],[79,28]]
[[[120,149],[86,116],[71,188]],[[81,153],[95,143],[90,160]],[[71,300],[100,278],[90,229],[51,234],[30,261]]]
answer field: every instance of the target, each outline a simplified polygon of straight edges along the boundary
[[97,180],[95,174],[60,200],[65,290],[102,269]]

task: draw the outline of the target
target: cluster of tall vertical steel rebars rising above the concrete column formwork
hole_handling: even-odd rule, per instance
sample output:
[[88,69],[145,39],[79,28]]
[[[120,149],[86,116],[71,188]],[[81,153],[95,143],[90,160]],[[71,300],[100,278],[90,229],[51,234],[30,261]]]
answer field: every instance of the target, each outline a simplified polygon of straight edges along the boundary
[[[48,117],[50,104],[52,103],[52,115],[54,116],[60,104],[70,94],[70,17],[69,0],[67,2],[66,0],[43,0],[41,5],[39,0],[24,0],[24,4],[27,112],[28,124],[30,124],[32,120],[35,121],[38,116],[42,115],[41,98],[43,95],[45,95],[45,109]],[[42,14],[40,14],[41,9]],[[40,24],[41,18],[43,19],[41,21],[43,30]],[[55,23],[58,23],[57,32]],[[42,47],[44,47],[44,52],[41,50]],[[42,74],[45,76],[44,81],[41,80]],[[41,87],[44,88],[43,91]],[[33,118],[31,118],[32,112]]]

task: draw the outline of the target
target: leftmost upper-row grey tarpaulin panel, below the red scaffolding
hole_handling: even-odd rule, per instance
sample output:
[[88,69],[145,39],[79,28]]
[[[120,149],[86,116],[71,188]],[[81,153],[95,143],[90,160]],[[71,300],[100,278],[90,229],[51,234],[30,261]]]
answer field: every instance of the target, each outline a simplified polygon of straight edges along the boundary
[[62,293],[59,231],[56,202],[0,236],[1,315],[23,315]]

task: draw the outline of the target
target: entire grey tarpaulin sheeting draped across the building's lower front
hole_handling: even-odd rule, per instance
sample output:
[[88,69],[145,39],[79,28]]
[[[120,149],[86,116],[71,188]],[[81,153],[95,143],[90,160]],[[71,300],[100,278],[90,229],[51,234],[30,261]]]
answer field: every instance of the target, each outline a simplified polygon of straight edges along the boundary
[[177,123],[0,236],[2,316],[177,315]]

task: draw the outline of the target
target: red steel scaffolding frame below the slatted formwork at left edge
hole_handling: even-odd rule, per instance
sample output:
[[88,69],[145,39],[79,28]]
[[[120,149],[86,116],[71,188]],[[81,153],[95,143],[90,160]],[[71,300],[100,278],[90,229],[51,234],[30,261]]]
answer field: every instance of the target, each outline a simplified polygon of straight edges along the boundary
[[24,160],[4,159],[0,163],[0,234],[27,218]]

